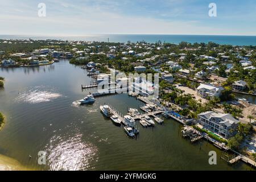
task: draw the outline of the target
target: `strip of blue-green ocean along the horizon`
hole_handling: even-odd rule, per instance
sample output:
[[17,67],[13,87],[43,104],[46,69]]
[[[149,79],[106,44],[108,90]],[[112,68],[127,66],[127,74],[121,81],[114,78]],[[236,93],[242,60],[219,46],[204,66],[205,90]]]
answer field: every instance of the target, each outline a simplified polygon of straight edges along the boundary
[[163,43],[179,44],[182,41],[189,43],[229,44],[232,46],[256,46],[256,36],[227,36],[227,35],[135,35],[135,34],[111,34],[111,35],[83,35],[83,36],[46,36],[46,35],[0,35],[0,39],[33,39],[33,40],[84,40],[97,42],[150,42],[159,40]]

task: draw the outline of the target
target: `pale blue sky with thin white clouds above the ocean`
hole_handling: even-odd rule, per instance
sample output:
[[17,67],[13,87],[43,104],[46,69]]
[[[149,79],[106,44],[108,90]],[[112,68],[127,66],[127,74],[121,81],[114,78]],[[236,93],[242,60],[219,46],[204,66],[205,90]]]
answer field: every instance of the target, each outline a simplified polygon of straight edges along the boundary
[[[46,16],[38,15],[39,3]],[[256,1],[0,0],[0,34],[256,35]]]

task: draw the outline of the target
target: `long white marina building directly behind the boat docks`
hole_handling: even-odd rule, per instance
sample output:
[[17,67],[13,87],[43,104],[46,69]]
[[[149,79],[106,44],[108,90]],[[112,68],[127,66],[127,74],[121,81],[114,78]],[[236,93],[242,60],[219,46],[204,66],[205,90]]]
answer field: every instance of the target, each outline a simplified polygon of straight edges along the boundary
[[148,97],[154,94],[154,84],[150,81],[146,81],[146,79],[142,77],[135,77],[131,87],[133,92],[141,96]]

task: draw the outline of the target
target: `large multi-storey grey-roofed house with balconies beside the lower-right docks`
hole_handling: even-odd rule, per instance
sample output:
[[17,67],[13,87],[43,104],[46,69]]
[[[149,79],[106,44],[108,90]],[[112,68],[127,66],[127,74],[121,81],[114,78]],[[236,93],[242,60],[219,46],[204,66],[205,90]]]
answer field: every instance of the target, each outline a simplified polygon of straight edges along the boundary
[[207,111],[197,115],[197,123],[220,137],[228,139],[236,134],[235,130],[239,121],[233,118],[231,114]]

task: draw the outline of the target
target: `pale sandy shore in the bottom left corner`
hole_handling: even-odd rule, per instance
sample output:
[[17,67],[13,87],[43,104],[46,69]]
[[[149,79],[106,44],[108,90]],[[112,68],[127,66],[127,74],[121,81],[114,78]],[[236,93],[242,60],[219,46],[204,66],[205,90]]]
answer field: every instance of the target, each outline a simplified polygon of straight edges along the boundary
[[0,171],[30,171],[17,160],[0,154]]

